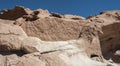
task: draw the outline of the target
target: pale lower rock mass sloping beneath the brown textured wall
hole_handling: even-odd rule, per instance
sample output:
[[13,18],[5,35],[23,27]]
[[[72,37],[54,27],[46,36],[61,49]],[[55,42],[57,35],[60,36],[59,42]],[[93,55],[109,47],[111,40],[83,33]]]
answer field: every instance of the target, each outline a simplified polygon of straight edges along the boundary
[[[4,23],[0,23],[0,26],[0,66],[106,65],[89,58],[91,52],[87,53],[90,48],[86,45],[90,45],[92,41],[83,37],[84,35],[78,40],[42,41],[28,37],[19,26]],[[83,60],[85,58],[88,63]]]

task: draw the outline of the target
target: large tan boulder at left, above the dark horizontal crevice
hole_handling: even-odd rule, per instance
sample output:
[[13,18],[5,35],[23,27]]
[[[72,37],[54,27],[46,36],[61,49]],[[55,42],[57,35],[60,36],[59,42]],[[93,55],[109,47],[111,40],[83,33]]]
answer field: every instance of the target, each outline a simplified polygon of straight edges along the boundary
[[0,23],[0,53],[2,54],[37,52],[38,40],[38,38],[28,37],[19,26]]

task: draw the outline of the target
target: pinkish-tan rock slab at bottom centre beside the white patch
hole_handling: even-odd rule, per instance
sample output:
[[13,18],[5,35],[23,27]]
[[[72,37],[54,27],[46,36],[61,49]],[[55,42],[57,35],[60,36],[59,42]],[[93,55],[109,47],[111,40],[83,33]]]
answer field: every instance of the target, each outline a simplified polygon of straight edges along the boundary
[[66,63],[58,54],[56,52],[42,54],[40,59],[44,61],[46,66],[72,66],[71,63]]

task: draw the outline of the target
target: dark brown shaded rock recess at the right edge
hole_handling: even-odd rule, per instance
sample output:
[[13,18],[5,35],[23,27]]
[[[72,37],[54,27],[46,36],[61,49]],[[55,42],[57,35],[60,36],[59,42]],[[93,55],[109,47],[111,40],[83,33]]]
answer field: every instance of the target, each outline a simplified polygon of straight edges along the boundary
[[103,26],[103,35],[100,35],[103,57],[120,63],[120,23]]

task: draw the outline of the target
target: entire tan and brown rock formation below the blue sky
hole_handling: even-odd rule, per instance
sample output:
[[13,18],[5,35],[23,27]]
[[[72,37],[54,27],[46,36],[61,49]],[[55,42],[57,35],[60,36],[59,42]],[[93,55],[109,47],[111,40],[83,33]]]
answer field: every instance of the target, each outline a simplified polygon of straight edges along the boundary
[[0,66],[118,66],[119,22],[119,11],[86,19],[21,6],[3,10]]

